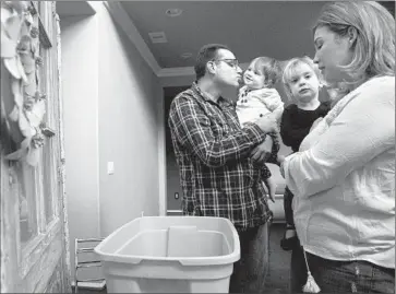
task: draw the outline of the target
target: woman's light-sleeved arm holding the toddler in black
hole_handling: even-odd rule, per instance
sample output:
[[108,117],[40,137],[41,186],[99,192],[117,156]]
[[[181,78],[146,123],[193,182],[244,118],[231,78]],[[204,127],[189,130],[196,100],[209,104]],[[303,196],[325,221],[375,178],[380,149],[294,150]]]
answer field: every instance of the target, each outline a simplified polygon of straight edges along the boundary
[[[286,184],[312,196],[340,184],[355,169],[395,146],[395,89],[364,89],[311,149],[285,160]],[[311,134],[309,134],[311,136]]]

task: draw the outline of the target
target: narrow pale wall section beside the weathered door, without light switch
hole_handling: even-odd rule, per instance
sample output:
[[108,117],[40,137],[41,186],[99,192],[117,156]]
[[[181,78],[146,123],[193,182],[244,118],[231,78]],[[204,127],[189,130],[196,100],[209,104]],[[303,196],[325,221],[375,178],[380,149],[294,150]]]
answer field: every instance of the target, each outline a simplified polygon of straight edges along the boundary
[[[65,190],[72,275],[74,239],[100,237],[97,17],[61,19]],[[80,279],[95,275],[82,272]]]

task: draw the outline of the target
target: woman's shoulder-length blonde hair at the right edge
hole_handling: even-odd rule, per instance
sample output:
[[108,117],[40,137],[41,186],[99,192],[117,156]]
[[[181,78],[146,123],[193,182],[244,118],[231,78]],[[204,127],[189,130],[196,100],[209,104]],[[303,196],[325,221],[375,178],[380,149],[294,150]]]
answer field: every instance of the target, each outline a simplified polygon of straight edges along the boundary
[[375,75],[395,75],[395,19],[374,1],[339,1],[325,4],[313,27],[326,26],[339,36],[357,31],[353,58],[341,69],[355,82]]

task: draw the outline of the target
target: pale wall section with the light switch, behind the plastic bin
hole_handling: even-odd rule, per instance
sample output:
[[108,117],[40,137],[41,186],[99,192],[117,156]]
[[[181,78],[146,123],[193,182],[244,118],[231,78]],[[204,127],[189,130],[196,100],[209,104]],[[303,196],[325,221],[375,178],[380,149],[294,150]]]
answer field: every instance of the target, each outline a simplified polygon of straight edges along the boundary
[[[104,236],[158,215],[159,80],[103,8],[99,17],[99,183]],[[107,162],[115,174],[107,175]]]

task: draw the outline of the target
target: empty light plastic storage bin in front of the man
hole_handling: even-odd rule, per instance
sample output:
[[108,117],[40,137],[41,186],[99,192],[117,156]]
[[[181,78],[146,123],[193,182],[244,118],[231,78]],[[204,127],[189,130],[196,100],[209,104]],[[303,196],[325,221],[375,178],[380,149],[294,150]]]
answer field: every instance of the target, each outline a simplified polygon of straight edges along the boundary
[[227,219],[144,216],[95,248],[108,293],[228,293],[239,237]]

